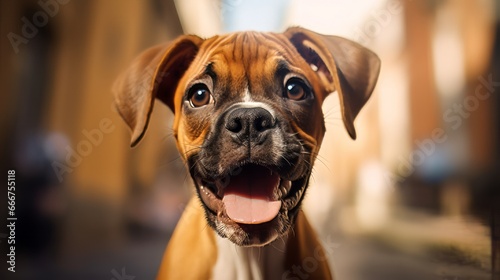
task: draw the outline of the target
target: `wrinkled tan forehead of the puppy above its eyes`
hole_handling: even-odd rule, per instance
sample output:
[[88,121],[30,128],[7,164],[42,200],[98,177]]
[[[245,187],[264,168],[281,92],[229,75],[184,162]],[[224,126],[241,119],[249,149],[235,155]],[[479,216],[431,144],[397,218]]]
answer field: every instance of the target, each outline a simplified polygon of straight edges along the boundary
[[300,72],[305,63],[281,34],[239,32],[207,39],[197,56],[197,73],[233,80],[269,79],[278,71]]

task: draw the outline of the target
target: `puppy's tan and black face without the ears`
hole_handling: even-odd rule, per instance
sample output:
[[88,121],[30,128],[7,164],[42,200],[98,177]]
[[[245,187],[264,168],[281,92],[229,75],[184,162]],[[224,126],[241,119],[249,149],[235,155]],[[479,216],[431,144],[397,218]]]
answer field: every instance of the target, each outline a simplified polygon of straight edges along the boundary
[[208,223],[238,245],[287,232],[325,131],[314,71],[272,39],[208,40],[178,87],[179,149]]

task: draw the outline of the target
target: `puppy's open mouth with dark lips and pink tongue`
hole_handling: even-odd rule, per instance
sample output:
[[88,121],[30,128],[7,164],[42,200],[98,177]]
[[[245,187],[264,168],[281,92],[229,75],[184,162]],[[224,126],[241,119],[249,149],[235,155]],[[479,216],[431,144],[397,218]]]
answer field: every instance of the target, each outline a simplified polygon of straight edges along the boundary
[[[305,189],[304,180],[290,181],[276,169],[244,164],[216,179],[193,176],[208,209],[225,223],[249,228],[276,219],[295,208]],[[247,226],[245,226],[247,225]]]

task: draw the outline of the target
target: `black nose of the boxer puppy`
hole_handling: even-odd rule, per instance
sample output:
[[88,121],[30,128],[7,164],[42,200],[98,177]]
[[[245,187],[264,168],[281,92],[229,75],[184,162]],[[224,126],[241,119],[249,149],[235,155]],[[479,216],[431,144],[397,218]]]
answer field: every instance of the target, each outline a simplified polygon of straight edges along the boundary
[[236,108],[226,117],[226,129],[240,141],[260,141],[264,132],[276,126],[276,120],[264,108]]

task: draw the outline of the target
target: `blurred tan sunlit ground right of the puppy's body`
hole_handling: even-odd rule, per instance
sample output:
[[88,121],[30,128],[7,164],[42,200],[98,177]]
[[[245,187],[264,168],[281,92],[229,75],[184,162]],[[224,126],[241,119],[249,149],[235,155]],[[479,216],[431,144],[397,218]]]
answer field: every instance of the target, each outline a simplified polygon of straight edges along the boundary
[[489,228],[472,218],[413,214],[338,238],[338,279],[491,279]]

